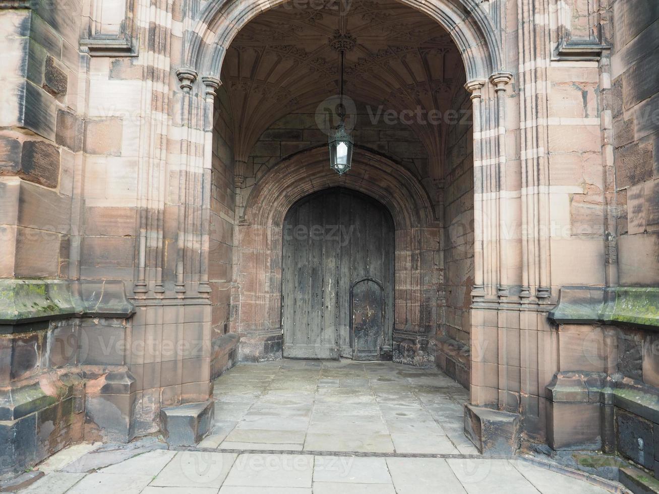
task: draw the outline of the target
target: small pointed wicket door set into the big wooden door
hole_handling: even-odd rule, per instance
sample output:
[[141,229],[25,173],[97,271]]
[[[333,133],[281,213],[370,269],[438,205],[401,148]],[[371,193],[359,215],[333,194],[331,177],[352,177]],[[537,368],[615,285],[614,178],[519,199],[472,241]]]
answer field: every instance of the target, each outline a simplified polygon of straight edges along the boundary
[[354,360],[382,358],[384,339],[384,290],[374,279],[362,279],[351,290]]

